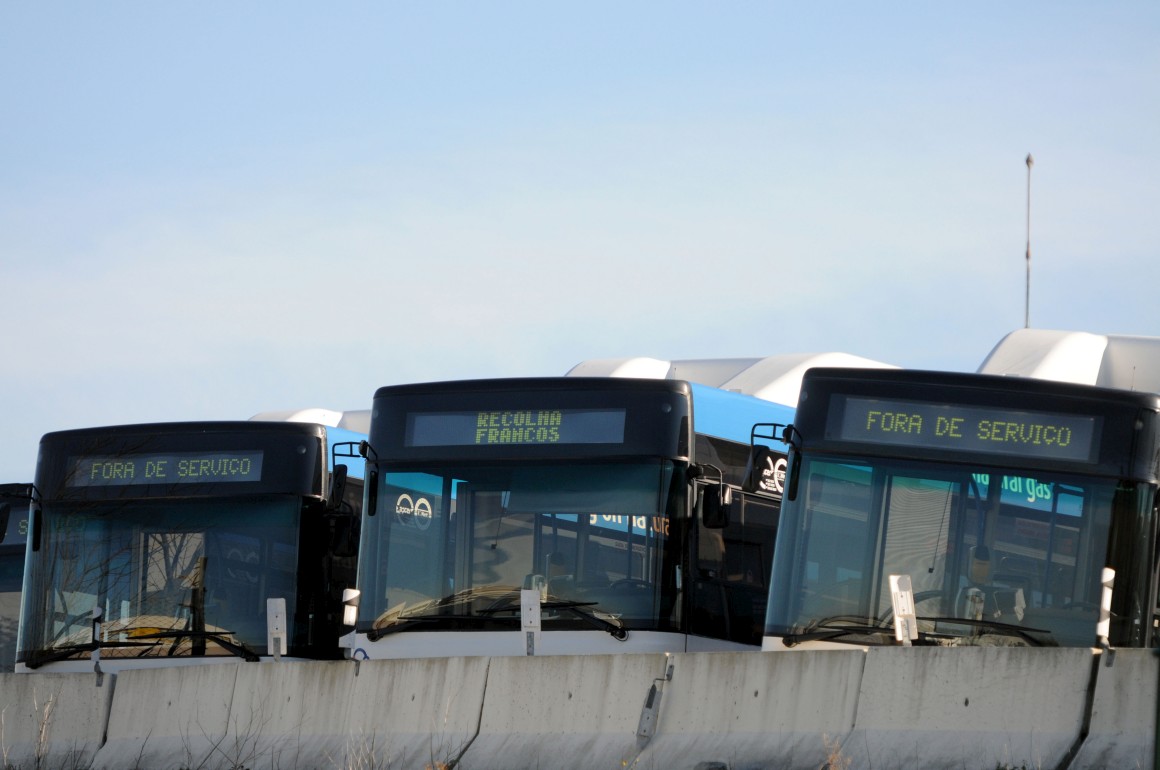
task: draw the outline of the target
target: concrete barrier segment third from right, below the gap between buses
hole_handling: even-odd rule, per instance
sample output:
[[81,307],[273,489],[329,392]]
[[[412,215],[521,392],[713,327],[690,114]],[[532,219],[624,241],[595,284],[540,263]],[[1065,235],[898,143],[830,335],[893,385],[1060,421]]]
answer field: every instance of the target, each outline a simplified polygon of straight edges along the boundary
[[817,770],[854,728],[864,661],[856,648],[676,655],[637,767]]

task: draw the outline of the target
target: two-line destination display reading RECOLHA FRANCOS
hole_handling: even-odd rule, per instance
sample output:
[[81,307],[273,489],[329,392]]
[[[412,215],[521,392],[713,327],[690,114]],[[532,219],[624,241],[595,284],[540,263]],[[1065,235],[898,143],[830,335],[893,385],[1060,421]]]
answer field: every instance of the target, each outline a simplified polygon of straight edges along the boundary
[[405,446],[619,444],[624,409],[485,409],[407,415]]

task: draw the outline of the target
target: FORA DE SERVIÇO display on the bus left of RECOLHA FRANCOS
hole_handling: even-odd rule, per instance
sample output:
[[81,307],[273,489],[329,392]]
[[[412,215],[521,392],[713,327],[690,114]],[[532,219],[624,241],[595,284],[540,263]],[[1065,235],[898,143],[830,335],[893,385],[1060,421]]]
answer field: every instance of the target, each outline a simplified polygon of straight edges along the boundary
[[262,452],[157,452],[74,458],[70,487],[262,480]]

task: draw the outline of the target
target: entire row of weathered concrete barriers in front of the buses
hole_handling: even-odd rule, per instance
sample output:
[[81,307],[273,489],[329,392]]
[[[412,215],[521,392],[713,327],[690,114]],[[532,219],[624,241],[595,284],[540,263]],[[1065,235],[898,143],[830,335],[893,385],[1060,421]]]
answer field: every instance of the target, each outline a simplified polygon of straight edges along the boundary
[[223,663],[126,670],[101,687],[93,674],[7,674],[0,767],[1150,767],[1160,659],[1112,660],[894,647]]

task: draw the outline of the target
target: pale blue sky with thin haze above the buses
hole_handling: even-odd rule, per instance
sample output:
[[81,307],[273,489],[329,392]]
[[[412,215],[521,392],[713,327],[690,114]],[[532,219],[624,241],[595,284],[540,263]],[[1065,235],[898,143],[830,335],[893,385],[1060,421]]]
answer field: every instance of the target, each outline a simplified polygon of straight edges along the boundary
[[49,430],[597,357],[1160,334],[1155,2],[0,5],[0,480]]

